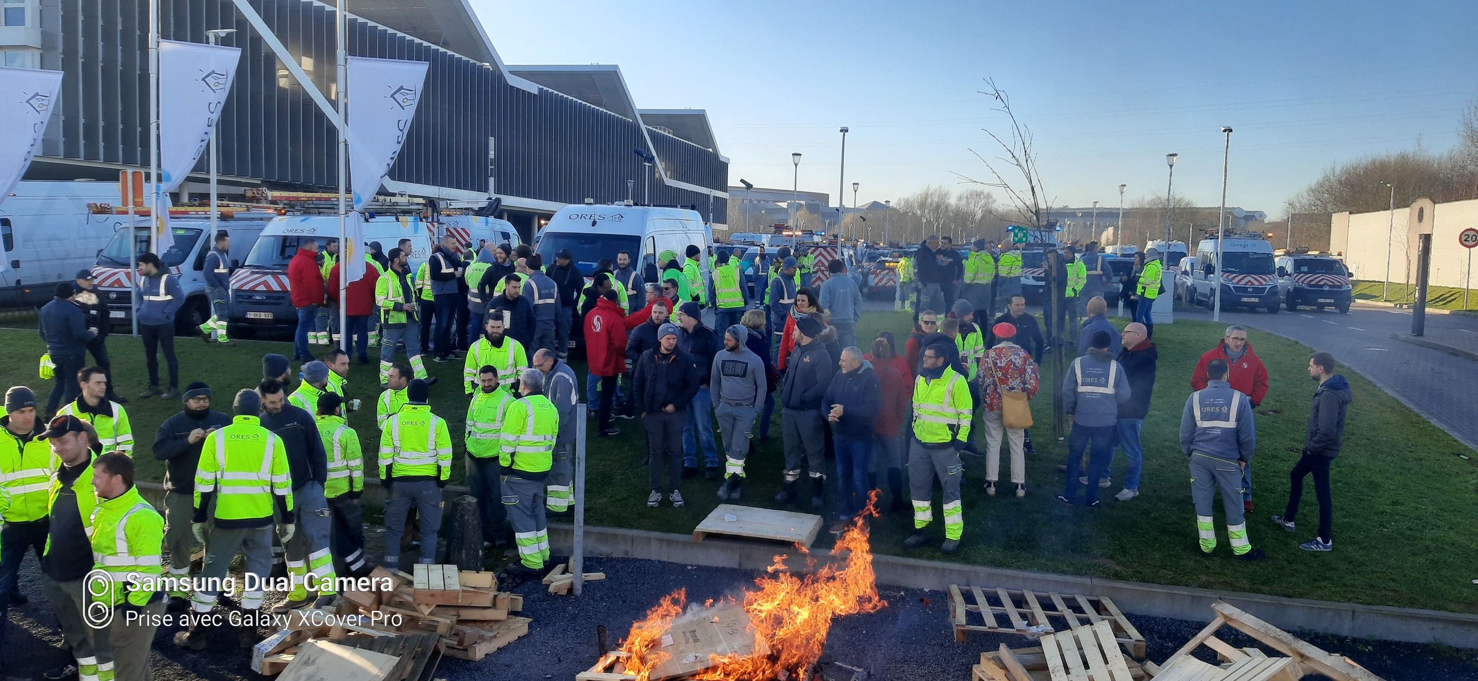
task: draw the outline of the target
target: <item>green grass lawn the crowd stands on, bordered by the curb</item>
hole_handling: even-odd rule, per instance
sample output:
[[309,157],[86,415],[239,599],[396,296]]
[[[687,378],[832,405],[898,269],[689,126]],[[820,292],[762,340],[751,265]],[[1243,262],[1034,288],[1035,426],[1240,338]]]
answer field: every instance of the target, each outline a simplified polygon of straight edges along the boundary
[[[1119,321],[1122,324],[1122,321]],[[888,328],[905,337],[906,313],[868,313],[859,338]],[[1108,495],[1122,486],[1123,458],[1113,470],[1114,486],[1104,490],[1098,510],[1067,508],[1051,499],[1063,476],[1057,464],[1066,446],[1051,437],[1051,400],[1043,390],[1035,400],[1039,425],[1033,428],[1041,455],[1027,458],[1029,495],[989,498],[984,461],[965,458],[965,542],[955,555],[930,548],[909,552],[921,558],[953,560],[998,567],[1095,575],[1114,579],[1253,591],[1276,595],[1355,601],[1383,606],[1413,606],[1440,610],[1478,612],[1478,542],[1474,508],[1478,470],[1472,454],[1448,434],[1422,420],[1370,381],[1344,371],[1355,390],[1349,409],[1345,452],[1335,462],[1335,545],[1329,554],[1298,550],[1317,527],[1312,485],[1307,486],[1299,513],[1299,532],[1284,533],[1270,516],[1281,513],[1287,495],[1287,471],[1298,459],[1304,422],[1314,384],[1305,366],[1310,349],[1256,329],[1250,340],[1268,365],[1273,389],[1258,415],[1258,454],[1253,461],[1256,513],[1249,516],[1255,547],[1268,560],[1242,563],[1230,558],[1218,504],[1219,555],[1206,560],[1196,552],[1194,510],[1190,498],[1185,456],[1176,431],[1181,408],[1190,391],[1190,374],[1197,356],[1216,343],[1221,328],[1209,322],[1176,322],[1156,329],[1160,350],[1159,383],[1150,418],[1145,421],[1145,471],[1140,498],[1116,502]],[[44,400],[49,381],[40,381],[35,360],[41,343],[34,331],[0,331],[0,378],[25,383]],[[177,343],[182,383],[205,380],[217,393],[217,408],[229,411],[229,396],[256,384],[260,357],[266,352],[290,353],[288,343],[238,341],[232,347],[205,346],[198,340]],[[143,357],[136,340],[109,340],[118,390],[133,396],[145,381]],[[429,363],[442,381],[432,389],[433,409],[460,428],[466,402],[458,386],[460,363]],[[584,378],[582,366],[576,366]],[[1045,378],[1049,380],[1049,378]],[[378,394],[375,365],[355,365],[350,396],[365,405]],[[149,456],[152,431],[177,402],[133,399],[127,405],[137,431],[140,474],[160,479],[163,465]],[[349,418],[372,452],[377,445],[372,408]],[[717,483],[684,482],[686,508],[647,508],[644,436],[638,421],[616,421],[622,433],[590,440],[587,519],[594,524],[640,527],[662,532],[692,532],[718,504]],[[978,437],[983,442],[983,436]],[[1008,456],[1002,456],[1008,459]],[[1004,461],[1002,468],[1008,464]],[[770,442],[749,456],[745,502],[770,505],[780,487],[782,446],[776,422]],[[454,473],[461,477],[458,461]],[[1007,477],[1007,471],[1002,471]],[[936,502],[937,504],[937,502]],[[936,511],[937,514],[937,511]],[[912,516],[885,514],[873,524],[873,548],[903,554],[902,539]],[[940,532],[939,523],[933,527]]]

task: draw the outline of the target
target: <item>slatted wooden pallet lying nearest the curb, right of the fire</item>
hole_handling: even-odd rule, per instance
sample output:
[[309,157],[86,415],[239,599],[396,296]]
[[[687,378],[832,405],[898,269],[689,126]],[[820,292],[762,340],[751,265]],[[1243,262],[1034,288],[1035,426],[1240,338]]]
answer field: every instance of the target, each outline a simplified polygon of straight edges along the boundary
[[[983,623],[974,623],[971,613],[978,613]],[[949,616],[959,643],[965,643],[967,631],[1036,638],[1107,622],[1125,650],[1135,659],[1144,659],[1144,637],[1106,595],[950,585]]]

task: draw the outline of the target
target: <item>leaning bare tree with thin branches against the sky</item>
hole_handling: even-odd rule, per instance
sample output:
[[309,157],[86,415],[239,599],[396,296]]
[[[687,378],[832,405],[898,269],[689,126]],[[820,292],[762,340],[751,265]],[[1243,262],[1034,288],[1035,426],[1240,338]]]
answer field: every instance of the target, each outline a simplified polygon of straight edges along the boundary
[[970,149],[975,158],[986,165],[989,177],[977,180],[964,173],[955,173],[961,182],[1001,189],[1007,196],[1007,205],[999,211],[992,211],[998,219],[1029,226],[1035,236],[1045,238],[1043,227],[1051,199],[1042,188],[1042,173],[1036,162],[1036,149],[1032,130],[1017,118],[1011,109],[1011,97],[996,86],[993,78],[984,78],[986,89],[981,95],[993,102],[993,111],[1005,114],[1008,131],[996,134],[990,129],[981,129],[996,143],[999,155],[986,158],[975,149]]

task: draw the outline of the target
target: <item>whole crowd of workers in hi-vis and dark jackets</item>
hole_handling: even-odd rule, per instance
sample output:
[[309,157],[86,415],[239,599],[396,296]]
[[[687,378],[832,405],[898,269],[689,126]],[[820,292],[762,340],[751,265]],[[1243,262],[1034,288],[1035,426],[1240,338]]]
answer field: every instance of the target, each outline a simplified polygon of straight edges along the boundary
[[[965,529],[962,452],[984,456],[983,492],[995,496],[1005,446],[1005,490],[1026,496],[1026,455],[1035,454],[1030,400],[1042,389],[1039,362],[1054,344],[1064,352],[1076,344],[1069,369],[1057,377],[1072,433],[1067,461],[1058,467],[1066,473],[1063,492],[1054,498],[1100,507],[1098,490],[1111,486],[1110,468],[1120,451],[1128,465],[1114,499],[1140,495],[1141,431],[1159,353],[1150,325],[1134,321],[1119,329],[1107,318],[1103,292],[1111,275],[1095,260],[1094,244],[1080,259],[1072,250],[1061,254],[1070,275],[1063,306],[1076,310],[1080,303],[1083,319],[1048,315],[1043,331],[1027,313],[1020,282],[1012,288],[1011,251],[998,259],[975,242],[961,259],[931,236],[900,266],[909,275],[900,290],[915,295],[915,326],[902,344],[891,331],[881,331],[866,349],[857,341],[862,295],[841,259],[825,263],[829,276],[814,278],[810,284],[819,285],[813,287],[806,285],[803,269],[814,275],[814,260],[803,266],[780,250],[769,261],[751,254],[745,264],[720,247],[705,279],[698,267],[702,251],[690,247],[681,260],[662,253],[658,281],[647,282],[631,254],[621,251],[602,259],[587,284],[569,251],[542,266],[526,247],[483,244],[469,257],[466,244],[443,239],[421,270],[411,272],[406,247],[381,254],[371,244],[372,266],[340,300],[341,263],[331,250],[319,253],[304,239],[294,257],[302,264],[290,267],[294,303],[302,303],[296,356],[266,355],[262,381],[228,393],[231,414],[213,409],[217,400],[202,381],[176,389],[177,362],[166,338],[173,338],[177,284],[149,270],[152,259],[140,257],[139,290],[143,303],[152,304],[149,321],[163,321],[154,325],[161,326],[154,341],[146,337],[151,390],[145,396],[180,399],[183,406],[158,425],[152,443],[167,468],[163,514],[133,486],[133,424],[99,343],[108,331],[106,315],[99,319],[90,275],[78,273],[41,310],[56,377],[50,403],[38,408],[33,391],[16,386],[6,391],[0,420],[9,436],[0,437],[0,607],[25,601],[16,576],[30,547],[75,657],[75,669],[55,669],[47,678],[146,678],[139,647],[146,659],[149,620],[115,617],[109,628],[93,629],[81,619],[89,598],[96,600],[83,591],[93,567],[189,578],[191,552],[204,544],[207,558],[195,576],[207,581],[200,588],[164,581],[134,589],[115,582],[105,606],[207,615],[223,595],[208,579],[225,576],[238,554],[250,573],[265,578],[281,563],[293,578],[275,612],[333,606],[337,575],[361,576],[371,569],[359,507],[367,485],[386,490],[384,524],[393,539],[380,564],[433,563],[442,489],[457,455],[467,456],[483,541],[516,548],[517,560],[507,572],[539,573],[550,560],[547,519],[569,513],[573,502],[582,397],[597,437],[619,434],[615,420],[641,421],[649,507],[664,501],[683,507],[683,480],[698,474],[721,482],[720,499],[742,501],[746,476],[755,473],[748,467],[752,442],[770,439],[779,406],[785,456],[782,468],[770,471],[780,482],[774,504],[804,499],[835,519],[834,530],[840,530],[873,490],[885,489],[891,513],[912,513],[913,532],[903,545],[913,548],[930,541],[937,485],[943,490],[940,550],[955,552]],[[766,264],[767,281],[757,281],[749,272]],[[959,287],[949,273],[956,266],[964,272]],[[300,291],[299,279],[316,288],[304,284]],[[1148,284],[1140,285],[1140,300],[1154,300],[1157,278],[1141,281]],[[337,315],[319,315],[334,304],[346,306],[352,340],[315,357],[313,344],[337,340]],[[709,326],[705,318],[717,324]],[[202,331],[225,338],[223,328],[207,324]],[[566,359],[575,328],[588,359],[584,393]],[[429,389],[437,378],[426,372],[423,338],[432,360],[463,362],[464,406],[430,403]],[[378,449],[370,471],[361,436],[346,415],[361,408],[359,399],[349,397],[350,360],[358,355],[368,363],[368,347],[375,343]],[[170,366],[163,394],[155,347],[166,349]],[[402,350],[405,360],[398,360]],[[93,353],[93,365],[83,366],[86,352]],[[1274,520],[1295,529],[1302,479],[1312,474],[1320,529],[1302,548],[1329,551],[1329,464],[1339,454],[1352,394],[1327,353],[1314,353],[1310,375],[1318,389],[1304,456],[1290,473],[1287,507]],[[1200,551],[1210,555],[1216,547],[1212,504],[1221,490],[1233,555],[1261,558],[1264,552],[1247,539],[1244,513],[1252,510],[1253,409],[1268,391],[1268,371],[1246,329],[1227,328],[1200,359],[1190,389],[1179,443],[1193,480]],[[445,408],[464,409],[461,433],[437,415]],[[983,439],[974,436],[977,422]],[[402,542],[395,539],[406,535],[412,508],[418,554],[402,557]],[[244,591],[235,603],[254,615],[263,600],[262,591]],[[208,619],[192,619],[174,643],[200,650],[210,629]],[[242,625],[239,638],[250,646],[259,632]]]

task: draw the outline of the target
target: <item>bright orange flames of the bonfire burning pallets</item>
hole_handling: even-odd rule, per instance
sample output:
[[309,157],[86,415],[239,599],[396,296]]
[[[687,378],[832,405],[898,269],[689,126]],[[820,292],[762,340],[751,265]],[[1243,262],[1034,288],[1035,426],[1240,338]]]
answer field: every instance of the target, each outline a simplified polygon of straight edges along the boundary
[[[755,589],[745,589],[743,610],[749,616],[758,643],[769,654],[711,657],[714,666],[692,677],[708,681],[767,681],[813,678],[811,668],[820,659],[832,620],[838,616],[871,613],[884,606],[872,572],[872,551],[868,548],[866,517],[876,516],[873,498],[842,532],[831,554],[841,563],[828,563],[819,570],[797,576],[786,570],[785,555],[776,555],[770,575],[755,579]],[[806,552],[804,547],[797,547]],[[814,563],[808,563],[814,567]],[[670,656],[658,650],[661,638],[683,615],[686,589],[677,589],[633,623],[622,644],[628,653],[625,674],[637,681],[650,681],[652,671]],[[705,606],[712,606],[708,603]]]

